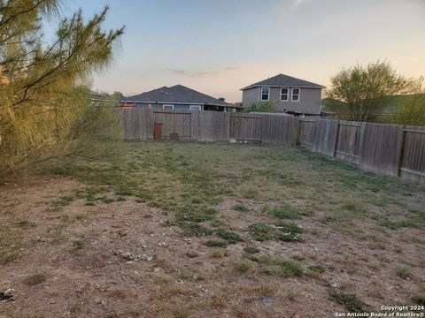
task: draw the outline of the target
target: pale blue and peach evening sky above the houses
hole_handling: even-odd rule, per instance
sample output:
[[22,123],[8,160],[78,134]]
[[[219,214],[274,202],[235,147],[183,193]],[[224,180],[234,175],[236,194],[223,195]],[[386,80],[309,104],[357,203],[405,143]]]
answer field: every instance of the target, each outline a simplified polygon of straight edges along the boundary
[[104,28],[126,31],[97,91],[182,84],[239,102],[241,87],[279,73],[328,87],[343,67],[378,59],[425,75],[425,0],[69,0],[64,12],[89,18],[105,5]]

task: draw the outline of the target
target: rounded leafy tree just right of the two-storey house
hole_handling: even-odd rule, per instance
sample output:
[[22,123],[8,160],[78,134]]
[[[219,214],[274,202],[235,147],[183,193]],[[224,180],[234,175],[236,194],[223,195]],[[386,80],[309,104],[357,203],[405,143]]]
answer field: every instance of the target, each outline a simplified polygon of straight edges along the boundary
[[380,61],[343,69],[330,82],[330,111],[340,119],[371,122],[383,113],[392,96],[406,93],[411,85],[411,80]]

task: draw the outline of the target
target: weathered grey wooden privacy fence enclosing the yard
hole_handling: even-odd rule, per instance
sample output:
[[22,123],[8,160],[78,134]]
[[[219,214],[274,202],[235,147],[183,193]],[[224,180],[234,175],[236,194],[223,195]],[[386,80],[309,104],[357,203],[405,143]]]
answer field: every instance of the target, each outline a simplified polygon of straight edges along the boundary
[[161,140],[300,145],[366,170],[425,182],[425,127],[200,110],[120,112],[126,140],[155,135]]

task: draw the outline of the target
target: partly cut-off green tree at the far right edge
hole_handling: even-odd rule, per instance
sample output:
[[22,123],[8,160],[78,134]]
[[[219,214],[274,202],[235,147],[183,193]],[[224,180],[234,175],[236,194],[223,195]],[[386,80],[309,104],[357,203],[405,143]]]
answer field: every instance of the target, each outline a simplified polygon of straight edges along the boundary
[[394,121],[403,125],[425,125],[424,78],[416,79],[411,94],[403,97],[394,115]]

